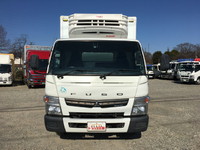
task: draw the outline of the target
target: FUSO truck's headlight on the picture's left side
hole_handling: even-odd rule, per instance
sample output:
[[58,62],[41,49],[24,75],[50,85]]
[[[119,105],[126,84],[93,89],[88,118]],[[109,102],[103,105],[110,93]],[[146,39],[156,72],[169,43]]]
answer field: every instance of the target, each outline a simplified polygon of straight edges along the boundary
[[59,98],[54,96],[44,96],[46,113],[49,115],[61,115]]

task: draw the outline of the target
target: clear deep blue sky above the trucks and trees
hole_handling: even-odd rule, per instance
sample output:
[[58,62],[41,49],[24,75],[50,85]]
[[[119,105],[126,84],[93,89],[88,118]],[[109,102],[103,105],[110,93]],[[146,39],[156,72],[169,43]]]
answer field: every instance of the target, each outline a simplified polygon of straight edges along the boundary
[[26,34],[29,42],[52,46],[60,16],[74,13],[136,16],[137,39],[150,53],[200,44],[200,0],[0,0],[0,25],[11,41]]

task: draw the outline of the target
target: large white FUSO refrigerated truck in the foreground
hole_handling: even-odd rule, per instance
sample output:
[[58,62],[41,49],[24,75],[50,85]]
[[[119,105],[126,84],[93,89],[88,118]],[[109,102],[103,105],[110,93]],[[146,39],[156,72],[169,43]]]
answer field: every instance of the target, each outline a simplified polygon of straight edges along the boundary
[[148,78],[136,17],[60,17],[46,75],[45,126],[57,133],[141,133]]

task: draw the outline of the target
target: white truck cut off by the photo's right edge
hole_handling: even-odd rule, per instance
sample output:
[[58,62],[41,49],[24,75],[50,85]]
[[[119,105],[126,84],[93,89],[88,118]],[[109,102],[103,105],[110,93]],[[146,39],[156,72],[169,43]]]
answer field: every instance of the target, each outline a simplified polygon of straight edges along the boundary
[[200,62],[180,64],[179,77],[181,82],[200,84]]

